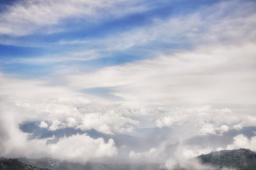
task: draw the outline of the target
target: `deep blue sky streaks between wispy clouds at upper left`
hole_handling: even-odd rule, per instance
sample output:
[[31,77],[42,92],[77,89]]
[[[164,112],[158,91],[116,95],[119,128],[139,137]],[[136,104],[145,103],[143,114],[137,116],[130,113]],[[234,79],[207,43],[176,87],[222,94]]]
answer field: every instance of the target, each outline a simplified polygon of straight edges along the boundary
[[[25,7],[29,13],[29,9],[35,2],[2,1],[1,3],[2,16],[11,18],[12,12],[17,12],[21,15],[22,12],[26,12],[15,11],[21,10],[21,7]],[[171,43],[165,42],[166,40],[152,38],[152,40],[148,40],[148,42],[145,43],[143,42],[143,44],[138,42],[138,45],[117,47],[115,50],[106,49],[108,48],[108,42],[105,39],[109,37],[115,38],[115,35],[126,34],[130,31],[136,32],[136,29],[143,30],[143,28],[147,29],[148,27],[150,29],[152,25],[155,25],[156,21],[165,22],[165,20],[175,18],[176,16],[186,17],[201,8],[218,3],[220,3],[220,1],[193,1],[192,3],[190,1],[135,1],[126,5],[126,2],[123,4],[118,4],[117,2],[116,4],[111,4],[113,6],[110,8],[128,8],[127,11],[123,10],[122,13],[122,11],[116,10],[118,13],[115,13],[114,10],[113,13],[108,13],[108,8],[105,9],[101,8],[101,6],[96,6],[96,8],[92,10],[96,10],[97,13],[93,13],[91,16],[79,12],[76,13],[76,16],[69,16],[68,14],[64,14],[64,16],[56,15],[57,21],[52,21],[52,23],[51,21],[49,21],[49,23],[41,21],[42,23],[40,23],[40,17],[45,17],[50,20],[51,16],[48,16],[48,13],[43,13],[42,16],[40,16],[39,13],[38,18],[33,18],[33,16],[30,16],[30,14],[33,15],[31,12],[28,15],[30,18],[18,16],[20,21],[6,21],[7,19],[2,17],[1,21],[4,24],[2,30],[6,29],[7,32],[2,31],[0,35],[1,70],[7,73],[19,73],[25,74],[26,77],[34,77],[34,74],[30,75],[29,72],[26,72],[28,68],[28,70],[32,72],[35,70],[38,77],[41,77],[45,72],[41,69],[38,71],[35,66],[41,65],[42,63],[24,63],[22,59],[42,58],[43,60],[44,58],[56,58],[57,60],[57,58],[61,58],[65,55],[65,58],[68,58],[69,62],[78,64],[79,67],[81,67],[79,62],[72,60],[72,58],[76,57],[74,54],[94,51],[93,54],[89,56],[79,55],[79,60],[87,60],[87,58],[89,58],[90,61],[84,62],[86,67],[91,64],[93,64],[93,67],[105,67],[109,64],[122,64],[125,62],[143,60],[148,57],[155,57],[158,52],[171,53],[172,50],[186,49],[193,46],[193,42],[189,42],[189,38],[182,34],[172,35],[171,38],[173,42]],[[40,5],[44,6],[45,4],[38,4],[38,8],[40,8]],[[63,4],[65,7],[68,6],[68,4]],[[54,8],[57,8],[57,5],[58,3],[52,4],[52,6],[45,6],[53,11]],[[63,9],[62,12],[65,13],[65,9]],[[53,15],[52,18],[54,18],[55,13],[51,13]],[[11,19],[15,20],[15,18]],[[31,27],[31,29],[29,27]],[[101,43],[101,40],[104,42]],[[113,43],[119,42],[113,40]],[[125,43],[123,43],[123,45],[126,46]],[[152,54],[152,52],[155,54]],[[20,63],[17,64],[17,62]],[[45,69],[49,69],[50,67],[50,69],[53,69],[52,72],[54,72],[55,66],[58,64],[66,64],[66,61],[60,59],[57,63],[44,64],[43,67],[45,67]],[[20,72],[17,72],[13,67],[20,69]]]

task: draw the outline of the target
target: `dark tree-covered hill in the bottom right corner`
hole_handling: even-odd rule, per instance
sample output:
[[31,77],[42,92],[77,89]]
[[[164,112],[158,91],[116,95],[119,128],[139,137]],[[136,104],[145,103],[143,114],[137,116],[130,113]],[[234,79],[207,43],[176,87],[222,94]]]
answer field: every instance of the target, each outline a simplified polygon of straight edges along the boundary
[[250,149],[222,150],[220,152],[211,152],[202,154],[198,157],[202,164],[207,164],[222,169],[256,169],[256,152]]

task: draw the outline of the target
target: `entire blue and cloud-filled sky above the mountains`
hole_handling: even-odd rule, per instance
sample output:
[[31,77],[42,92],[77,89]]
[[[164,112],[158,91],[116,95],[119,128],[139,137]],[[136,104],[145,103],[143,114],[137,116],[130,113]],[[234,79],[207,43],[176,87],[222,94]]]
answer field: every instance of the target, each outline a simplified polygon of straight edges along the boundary
[[[1,156],[87,162],[120,153],[115,140],[87,133],[57,142],[31,138],[19,128],[29,122],[113,136],[171,128],[180,132],[177,141],[255,126],[255,6],[250,0],[0,1]],[[240,135],[227,148],[255,149],[255,139]]]

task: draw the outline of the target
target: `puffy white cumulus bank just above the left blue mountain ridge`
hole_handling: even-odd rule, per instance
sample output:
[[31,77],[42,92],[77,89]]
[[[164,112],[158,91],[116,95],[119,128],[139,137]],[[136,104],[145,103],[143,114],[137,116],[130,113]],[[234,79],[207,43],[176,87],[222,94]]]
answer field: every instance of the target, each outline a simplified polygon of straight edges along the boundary
[[[79,106],[77,103],[70,105],[69,103],[69,106],[64,108],[62,108],[63,103],[50,103],[52,110],[48,109],[49,103],[50,101],[47,103],[33,103],[29,107],[37,111],[39,115],[42,111],[38,109],[38,104],[40,108],[47,108],[44,111],[45,117],[43,119],[47,120],[48,123],[41,121],[40,128],[48,128],[48,130],[63,128],[94,129],[98,132],[113,135],[115,132],[129,132],[133,130],[133,127],[139,125],[138,120],[129,118],[130,115],[127,114],[129,108],[118,107],[111,103],[92,102],[84,103],[83,106]],[[72,110],[74,107],[79,108]],[[58,108],[57,113],[55,113],[54,108]],[[63,114],[64,112],[65,114]]]

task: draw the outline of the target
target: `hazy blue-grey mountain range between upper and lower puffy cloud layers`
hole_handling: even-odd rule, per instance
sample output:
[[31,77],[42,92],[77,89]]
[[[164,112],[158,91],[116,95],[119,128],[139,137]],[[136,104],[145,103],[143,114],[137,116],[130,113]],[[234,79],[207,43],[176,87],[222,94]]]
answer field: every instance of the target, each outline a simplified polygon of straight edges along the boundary
[[[62,128],[57,130],[48,130],[47,128],[40,128],[39,122],[26,122],[19,126],[23,132],[27,132],[31,135],[31,138],[44,139],[48,137],[54,137],[51,142],[57,142],[62,137],[69,137],[75,134],[87,133],[89,137],[97,139],[102,137],[105,142],[109,139],[115,141],[116,147],[122,148],[120,152],[126,157],[130,151],[133,152],[147,152],[152,147],[157,148],[165,142],[167,145],[167,155],[161,157],[169,157],[169,153],[174,153],[177,145],[189,145],[190,147],[198,146],[201,148],[211,147],[217,149],[218,147],[226,148],[233,143],[233,137],[243,134],[245,137],[255,136],[256,127],[243,127],[240,130],[230,129],[228,132],[218,135],[196,135],[194,137],[188,137],[187,139],[180,140],[180,130],[174,128],[138,128],[132,132],[116,133],[114,135],[104,134],[97,130],[79,130],[75,128]],[[125,146],[125,147],[123,147]],[[124,149],[125,148],[125,149]]]

